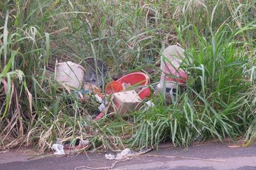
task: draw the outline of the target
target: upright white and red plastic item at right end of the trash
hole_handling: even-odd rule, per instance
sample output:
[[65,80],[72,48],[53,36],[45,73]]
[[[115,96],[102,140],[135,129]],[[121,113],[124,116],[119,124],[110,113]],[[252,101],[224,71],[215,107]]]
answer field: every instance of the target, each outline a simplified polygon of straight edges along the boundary
[[183,54],[183,48],[177,45],[170,45],[163,51],[161,57],[161,74],[160,87],[164,87],[166,82],[166,88],[177,88],[177,84],[185,84],[188,76],[187,73],[180,68],[180,63],[185,58]]

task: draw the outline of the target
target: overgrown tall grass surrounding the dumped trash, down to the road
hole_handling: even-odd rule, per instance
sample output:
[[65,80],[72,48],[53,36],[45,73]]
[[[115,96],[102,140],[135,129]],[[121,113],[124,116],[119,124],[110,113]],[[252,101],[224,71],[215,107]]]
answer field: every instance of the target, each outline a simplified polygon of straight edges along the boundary
[[[256,137],[255,0],[5,0],[0,3],[0,147],[89,139],[92,148],[187,146]],[[102,59],[109,79],[154,68],[165,47],[186,49],[186,91],[165,105],[88,121],[90,105],[58,89],[55,60]],[[186,65],[185,65],[186,63]]]

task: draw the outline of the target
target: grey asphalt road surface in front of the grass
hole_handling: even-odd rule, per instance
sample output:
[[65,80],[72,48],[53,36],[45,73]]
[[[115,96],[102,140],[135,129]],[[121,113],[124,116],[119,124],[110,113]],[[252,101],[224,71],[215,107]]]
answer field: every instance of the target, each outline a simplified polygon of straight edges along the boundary
[[[231,148],[230,144],[207,143],[188,148],[162,144],[153,150],[131,160],[117,162],[113,170],[256,170],[256,146]],[[150,156],[151,155],[151,156]],[[178,156],[188,158],[167,158],[158,156]],[[31,156],[20,152],[0,153],[0,170],[77,170],[111,167],[115,161],[105,159],[105,154],[80,154],[78,156],[57,156],[29,159]],[[200,160],[195,160],[198,158]],[[28,160],[29,159],[29,160]],[[202,160],[207,159],[207,160]],[[217,160],[217,161],[214,161]]]

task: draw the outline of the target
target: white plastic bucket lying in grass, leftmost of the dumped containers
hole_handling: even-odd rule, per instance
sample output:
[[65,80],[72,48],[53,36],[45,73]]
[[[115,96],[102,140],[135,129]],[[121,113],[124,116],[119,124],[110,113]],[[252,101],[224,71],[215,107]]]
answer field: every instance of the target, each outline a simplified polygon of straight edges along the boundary
[[71,61],[56,64],[56,80],[70,88],[80,89],[83,83],[84,68]]

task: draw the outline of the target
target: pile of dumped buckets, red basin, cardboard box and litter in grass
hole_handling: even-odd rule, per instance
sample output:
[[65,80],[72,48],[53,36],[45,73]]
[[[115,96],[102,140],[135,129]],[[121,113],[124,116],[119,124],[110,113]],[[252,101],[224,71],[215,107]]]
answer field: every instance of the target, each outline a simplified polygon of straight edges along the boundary
[[[178,85],[181,88],[185,87],[188,76],[186,71],[180,68],[184,58],[184,50],[177,45],[170,45],[163,51],[160,83],[155,86],[153,94],[160,93],[168,97],[170,94],[175,95]],[[145,107],[154,107],[154,103],[148,100],[152,93],[147,74],[136,71],[105,84],[107,67],[103,62],[89,57],[85,59],[85,63],[83,67],[70,61],[56,61],[55,80],[59,88],[64,88],[69,93],[76,92],[80,100],[86,100],[87,95],[95,96],[99,106],[92,113],[94,120],[99,120],[110,113],[123,116]],[[54,145],[54,148],[63,149],[59,145]]]

